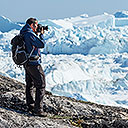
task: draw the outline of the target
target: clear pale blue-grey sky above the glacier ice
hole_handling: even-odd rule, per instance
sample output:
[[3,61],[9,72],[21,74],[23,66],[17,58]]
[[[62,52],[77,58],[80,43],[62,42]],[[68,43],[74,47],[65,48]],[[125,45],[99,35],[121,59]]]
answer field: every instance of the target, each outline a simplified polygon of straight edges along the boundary
[[119,10],[128,10],[128,0],[0,0],[0,15],[18,22],[29,17],[63,19],[81,14],[113,14]]

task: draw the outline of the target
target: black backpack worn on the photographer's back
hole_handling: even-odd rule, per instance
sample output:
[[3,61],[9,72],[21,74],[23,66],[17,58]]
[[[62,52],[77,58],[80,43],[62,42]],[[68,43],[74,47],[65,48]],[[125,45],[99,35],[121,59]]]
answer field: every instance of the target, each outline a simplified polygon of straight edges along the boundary
[[14,63],[17,65],[24,65],[26,62],[28,62],[32,52],[34,51],[34,48],[32,49],[30,55],[26,53],[24,36],[22,34],[16,35],[11,40],[11,45],[12,59]]

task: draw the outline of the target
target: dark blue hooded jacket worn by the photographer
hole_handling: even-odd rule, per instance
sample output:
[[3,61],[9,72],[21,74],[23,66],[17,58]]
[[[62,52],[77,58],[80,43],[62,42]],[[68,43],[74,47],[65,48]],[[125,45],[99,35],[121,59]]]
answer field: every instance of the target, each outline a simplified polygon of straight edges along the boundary
[[33,46],[35,47],[28,64],[39,65],[41,63],[41,55],[39,48],[44,48],[45,41],[37,37],[37,35],[33,32],[29,24],[26,24],[21,29],[20,34],[24,35],[26,52],[28,53],[28,55],[31,53]]

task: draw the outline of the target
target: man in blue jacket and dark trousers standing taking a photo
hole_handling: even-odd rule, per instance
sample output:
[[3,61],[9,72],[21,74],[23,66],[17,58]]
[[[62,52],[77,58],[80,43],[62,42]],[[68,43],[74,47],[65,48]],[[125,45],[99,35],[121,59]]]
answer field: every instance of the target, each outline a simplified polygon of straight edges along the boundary
[[[28,55],[32,52],[29,61],[24,65],[26,80],[26,104],[28,111],[37,116],[46,116],[43,111],[43,97],[45,95],[45,75],[40,65],[41,55],[39,48],[44,48],[43,40],[44,30],[40,32],[40,38],[37,36],[38,21],[35,18],[29,18],[20,34],[24,35],[26,52]],[[33,100],[33,87],[36,88],[35,100]]]

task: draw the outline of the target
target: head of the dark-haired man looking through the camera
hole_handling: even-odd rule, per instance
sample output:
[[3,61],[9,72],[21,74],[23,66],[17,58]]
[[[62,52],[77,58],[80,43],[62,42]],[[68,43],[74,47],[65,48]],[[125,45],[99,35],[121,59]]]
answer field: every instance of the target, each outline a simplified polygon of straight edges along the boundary
[[29,18],[26,21],[26,23],[30,25],[30,27],[32,28],[33,32],[36,32],[37,25],[38,25],[38,21],[37,21],[36,18]]

